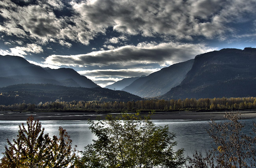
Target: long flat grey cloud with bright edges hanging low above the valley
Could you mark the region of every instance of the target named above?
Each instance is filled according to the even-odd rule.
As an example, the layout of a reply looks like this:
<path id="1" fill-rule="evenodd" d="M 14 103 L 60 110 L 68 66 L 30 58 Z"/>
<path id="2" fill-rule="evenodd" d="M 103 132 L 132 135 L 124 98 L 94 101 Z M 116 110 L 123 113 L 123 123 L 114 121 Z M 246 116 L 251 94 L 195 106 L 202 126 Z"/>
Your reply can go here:
<path id="1" fill-rule="evenodd" d="M 61 56 L 52 55 L 45 63 L 66 66 L 107 66 L 120 64 L 122 66 L 158 63 L 159 65 L 186 61 L 195 55 L 212 51 L 210 47 L 201 44 L 186 43 L 139 43 L 137 46 L 127 45 L 108 51 L 96 51 L 82 55 Z"/>

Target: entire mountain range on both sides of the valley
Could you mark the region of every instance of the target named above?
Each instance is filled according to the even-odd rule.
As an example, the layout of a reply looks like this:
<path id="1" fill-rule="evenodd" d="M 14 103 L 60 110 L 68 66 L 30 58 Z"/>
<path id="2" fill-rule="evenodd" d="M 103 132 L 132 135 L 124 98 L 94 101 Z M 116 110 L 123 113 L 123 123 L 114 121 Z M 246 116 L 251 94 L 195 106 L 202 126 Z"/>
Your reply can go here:
<path id="1" fill-rule="evenodd" d="M 2 96 L 6 95 L 5 98 L 11 95 L 14 100 L 15 91 L 19 91 L 20 94 L 17 95 L 23 95 L 23 100 L 29 95 L 34 95 L 35 99 L 39 100 L 40 96 L 33 94 L 38 93 L 38 89 L 31 93 L 30 87 L 37 88 L 40 85 L 43 87 L 42 92 L 48 95 L 50 92 L 47 88 L 56 89 L 54 86 L 61 85 L 61 91 L 46 97 L 51 97 L 52 100 L 65 98 L 65 101 L 71 99 L 129 101 L 140 100 L 140 97 L 158 99 L 251 97 L 256 96 L 255 62 L 256 48 L 222 49 L 199 54 L 195 59 L 173 64 L 148 76 L 122 79 L 106 87 L 109 89 L 104 89 L 73 69 L 42 68 L 18 56 L 0 56 L 0 93 Z M 12 90 L 12 87 L 15 89 Z M 24 94 L 19 87 L 26 88 L 23 90 Z M 91 90 L 88 90 L 89 88 Z M 80 92 L 85 95 L 77 96 L 76 99 L 71 90 L 77 95 L 80 95 Z M 72 96 L 68 98 L 67 94 L 61 92 Z M 20 97 L 16 96 L 15 99 L 21 100 Z M 43 99 L 43 96 L 41 98 Z"/>

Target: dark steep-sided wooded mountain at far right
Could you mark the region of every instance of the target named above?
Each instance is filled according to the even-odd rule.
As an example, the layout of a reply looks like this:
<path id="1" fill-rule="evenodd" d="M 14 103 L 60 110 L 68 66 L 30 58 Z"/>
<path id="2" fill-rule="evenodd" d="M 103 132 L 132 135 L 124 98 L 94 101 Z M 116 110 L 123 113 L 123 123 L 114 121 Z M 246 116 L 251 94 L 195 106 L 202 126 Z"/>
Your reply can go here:
<path id="1" fill-rule="evenodd" d="M 222 98 L 256 96 L 256 49 L 222 49 L 195 57 L 180 85 L 161 98 Z"/>

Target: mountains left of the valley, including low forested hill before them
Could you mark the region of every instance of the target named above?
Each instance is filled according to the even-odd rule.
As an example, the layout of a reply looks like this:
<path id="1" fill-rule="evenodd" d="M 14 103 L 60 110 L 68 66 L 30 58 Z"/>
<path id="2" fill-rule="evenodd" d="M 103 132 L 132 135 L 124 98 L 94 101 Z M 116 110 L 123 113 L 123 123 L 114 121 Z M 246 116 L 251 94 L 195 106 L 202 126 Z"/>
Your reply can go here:
<path id="1" fill-rule="evenodd" d="M 47 101 L 141 100 L 124 91 L 99 87 L 70 68 L 50 69 L 29 63 L 19 56 L 0 55 L 0 104 Z"/>

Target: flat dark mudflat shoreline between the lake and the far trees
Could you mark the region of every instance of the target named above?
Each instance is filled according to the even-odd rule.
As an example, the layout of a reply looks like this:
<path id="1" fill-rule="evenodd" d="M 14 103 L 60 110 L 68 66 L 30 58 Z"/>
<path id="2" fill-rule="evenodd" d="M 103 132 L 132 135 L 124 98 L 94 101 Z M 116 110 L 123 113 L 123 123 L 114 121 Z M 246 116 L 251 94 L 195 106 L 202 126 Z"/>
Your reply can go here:
<path id="1" fill-rule="evenodd" d="M 239 111 L 242 119 L 256 118 L 256 111 Z M 106 115 L 112 114 L 113 116 L 121 113 L 117 112 L 0 112 L 0 121 L 26 121 L 28 117 L 33 116 L 34 119 L 39 121 L 86 121 L 88 119 L 104 120 Z M 135 112 L 128 112 L 128 114 L 135 114 Z M 141 112 L 140 115 L 147 115 L 149 112 Z M 178 112 L 154 112 L 151 119 L 175 119 L 175 120 L 221 120 L 225 119 L 226 112 L 191 112 L 191 111 L 178 111 Z"/>

